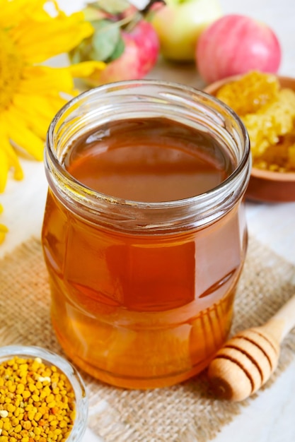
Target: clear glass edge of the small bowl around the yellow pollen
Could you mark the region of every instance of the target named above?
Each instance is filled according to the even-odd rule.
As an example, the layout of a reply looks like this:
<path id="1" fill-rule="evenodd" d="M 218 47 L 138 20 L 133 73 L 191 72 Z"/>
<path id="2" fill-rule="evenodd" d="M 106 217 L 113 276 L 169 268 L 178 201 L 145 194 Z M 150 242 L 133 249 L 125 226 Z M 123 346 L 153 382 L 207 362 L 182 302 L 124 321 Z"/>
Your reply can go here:
<path id="1" fill-rule="evenodd" d="M 45 365 L 54 365 L 68 378 L 74 390 L 76 398 L 76 418 L 73 429 L 66 442 L 81 442 L 83 434 L 86 431 L 88 418 L 88 398 L 86 395 L 86 387 L 83 383 L 79 372 L 66 359 L 58 354 L 45 350 L 41 347 L 8 345 L 0 347 L 0 364 L 18 356 L 24 359 L 35 359 L 39 357 Z"/>

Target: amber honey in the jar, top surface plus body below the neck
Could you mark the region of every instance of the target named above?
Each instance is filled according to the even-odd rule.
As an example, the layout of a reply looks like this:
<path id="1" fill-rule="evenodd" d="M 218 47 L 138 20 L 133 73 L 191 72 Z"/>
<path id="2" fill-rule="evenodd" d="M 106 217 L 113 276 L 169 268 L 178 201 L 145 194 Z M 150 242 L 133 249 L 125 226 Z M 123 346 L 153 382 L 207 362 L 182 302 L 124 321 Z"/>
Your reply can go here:
<path id="1" fill-rule="evenodd" d="M 100 127 L 71 146 L 64 167 L 91 189 L 146 202 L 195 196 L 233 170 L 216 142 L 166 119 Z M 226 340 L 243 205 L 199 229 L 138 234 L 83 220 L 49 191 L 42 238 L 54 329 L 96 378 L 168 386 L 204 369 Z"/>

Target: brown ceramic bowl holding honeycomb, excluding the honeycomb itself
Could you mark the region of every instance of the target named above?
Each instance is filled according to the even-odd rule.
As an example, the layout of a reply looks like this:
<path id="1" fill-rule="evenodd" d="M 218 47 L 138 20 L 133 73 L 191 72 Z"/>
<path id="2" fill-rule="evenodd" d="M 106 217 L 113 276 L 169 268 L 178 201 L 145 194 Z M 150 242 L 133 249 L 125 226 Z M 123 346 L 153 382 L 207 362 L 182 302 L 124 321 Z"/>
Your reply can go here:
<path id="1" fill-rule="evenodd" d="M 239 76 L 224 78 L 204 88 L 205 92 L 216 95 L 226 83 L 236 80 Z M 295 91 L 295 78 L 278 76 L 282 88 Z M 279 203 L 295 201 L 295 172 L 270 172 L 252 168 L 246 197 L 249 200 Z"/>

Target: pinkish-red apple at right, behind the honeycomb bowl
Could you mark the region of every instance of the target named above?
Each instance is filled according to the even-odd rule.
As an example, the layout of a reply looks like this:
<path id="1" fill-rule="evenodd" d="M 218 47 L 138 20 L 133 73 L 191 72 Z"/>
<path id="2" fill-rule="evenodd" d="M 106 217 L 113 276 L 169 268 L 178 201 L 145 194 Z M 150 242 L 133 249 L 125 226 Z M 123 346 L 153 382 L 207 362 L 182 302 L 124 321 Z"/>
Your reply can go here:
<path id="1" fill-rule="evenodd" d="M 207 83 L 248 71 L 276 73 L 282 50 L 274 31 L 253 18 L 229 14 L 202 32 L 195 58 Z"/>

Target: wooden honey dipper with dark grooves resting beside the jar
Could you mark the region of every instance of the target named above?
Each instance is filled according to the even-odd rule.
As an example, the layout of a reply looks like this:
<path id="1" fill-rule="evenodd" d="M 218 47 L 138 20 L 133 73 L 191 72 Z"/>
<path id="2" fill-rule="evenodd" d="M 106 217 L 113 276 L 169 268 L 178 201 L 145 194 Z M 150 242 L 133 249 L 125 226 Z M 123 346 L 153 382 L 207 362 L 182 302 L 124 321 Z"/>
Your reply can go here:
<path id="1" fill-rule="evenodd" d="M 295 325 L 295 295 L 267 323 L 238 333 L 209 364 L 208 376 L 219 398 L 248 398 L 272 375 L 280 343 Z"/>

